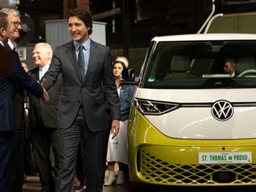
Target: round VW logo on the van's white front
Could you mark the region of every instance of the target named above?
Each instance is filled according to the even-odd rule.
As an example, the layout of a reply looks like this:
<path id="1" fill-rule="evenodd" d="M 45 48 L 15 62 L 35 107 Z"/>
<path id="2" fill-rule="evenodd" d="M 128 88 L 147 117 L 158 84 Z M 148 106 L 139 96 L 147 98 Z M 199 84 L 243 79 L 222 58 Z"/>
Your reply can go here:
<path id="1" fill-rule="evenodd" d="M 234 108 L 227 100 L 217 100 L 212 105 L 212 116 L 219 121 L 227 121 L 234 114 Z"/>

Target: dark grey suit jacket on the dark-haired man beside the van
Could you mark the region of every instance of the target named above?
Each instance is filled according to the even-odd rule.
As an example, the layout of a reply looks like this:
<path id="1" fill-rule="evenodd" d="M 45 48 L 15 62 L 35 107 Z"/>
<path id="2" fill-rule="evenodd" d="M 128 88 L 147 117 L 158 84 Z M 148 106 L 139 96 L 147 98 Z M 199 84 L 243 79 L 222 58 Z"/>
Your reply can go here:
<path id="1" fill-rule="evenodd" d="M 120 119 L 120 101 L 113 76 L 112 56 L 108 47 L 92 41 L 87 73 L 81 79 L 75 49 L 73 41 L 57 47 L 51 66 L 43 77 L 46 79 L 47 88 L 52 87 L 60 72 L 63 78 L 58 108 L 59 126 L 68 128 L 83 105 L 84 118 L 89 129 L 93 132 L 105 130 L 106 100 L 112 118 Z"/>

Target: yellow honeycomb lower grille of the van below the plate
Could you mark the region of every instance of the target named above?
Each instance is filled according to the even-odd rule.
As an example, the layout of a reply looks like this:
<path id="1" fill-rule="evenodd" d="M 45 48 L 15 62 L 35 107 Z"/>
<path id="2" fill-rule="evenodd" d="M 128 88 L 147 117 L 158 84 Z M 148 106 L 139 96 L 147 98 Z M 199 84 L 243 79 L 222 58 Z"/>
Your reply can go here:
<path id="1" fill-rule="evenodd" d="M 162 185 L 256 184 L 256 164 L 169 164 L 144 150 L 140 173 L 143 180 Z"/>

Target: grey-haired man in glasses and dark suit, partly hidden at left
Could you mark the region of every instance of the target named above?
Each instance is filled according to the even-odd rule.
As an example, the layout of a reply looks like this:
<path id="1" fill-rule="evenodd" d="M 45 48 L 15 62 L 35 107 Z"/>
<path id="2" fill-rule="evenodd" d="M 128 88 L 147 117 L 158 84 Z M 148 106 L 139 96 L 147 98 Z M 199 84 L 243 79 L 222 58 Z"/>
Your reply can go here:
<path id="1" fill-rule="evenodd" d="M 11 23 L 9 27 L 10 36 L 8 44 L 11 49 L 16 49 L 13 44 L 15 40 L 20 37 L 21 20 L 20 12 L 11 8 L 3 8 L 0 12 L 6 13 L 8 21 Z M 16 86 L 15 93 L 15 135 L 13 137 L 12 150 L 12 192 L 22 191 L 24 179 L 24 97 L 25 92 L 20 86 Z"/>

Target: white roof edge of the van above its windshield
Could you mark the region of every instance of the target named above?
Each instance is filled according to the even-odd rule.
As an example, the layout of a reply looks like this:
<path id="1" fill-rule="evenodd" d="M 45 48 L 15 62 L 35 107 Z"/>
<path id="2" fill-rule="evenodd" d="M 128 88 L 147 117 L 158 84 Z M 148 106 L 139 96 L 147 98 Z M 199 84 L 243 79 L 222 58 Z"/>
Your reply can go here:
<path id="1" fill-rule="evenodd" d="M 204 41 L 204 40 L 256 40 L 256 34 L 229 34 L 229 33 L 212 33 L 212 34 L 188 34 L 174 36 L 155 36 L 151 41 Z"/>

